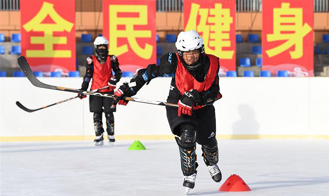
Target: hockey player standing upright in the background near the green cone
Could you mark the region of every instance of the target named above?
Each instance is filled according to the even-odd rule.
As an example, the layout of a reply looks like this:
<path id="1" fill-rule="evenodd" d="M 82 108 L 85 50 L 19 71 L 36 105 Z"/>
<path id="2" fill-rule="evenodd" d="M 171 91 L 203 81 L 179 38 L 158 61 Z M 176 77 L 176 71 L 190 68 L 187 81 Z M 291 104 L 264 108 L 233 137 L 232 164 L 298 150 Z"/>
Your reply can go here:
<path id="1" fill-rule="evenodd" d="M 94 41 L 95 55 L 91 55 L 86 59 L 86 74 L 83 77 L 81 90 L 87 90 L 90 79 L 91 90 L 109 86 L 108 88 L 99 90 L 99 92 L 114 93 L 116 83 L 122 77 L 122 72 L 119 68 L 117 56 L 108 55 L 108 41 L 105 37 L 97 37 Z M 112 74 L 114 71 L 114 75 Z M 86 95 L 79 94 L 80 99 Z M 94 140 L 96 146 L 103 145 L 103 124 L 102 112 L 106 118 L 106 132 L 110 144 L 115 142 L 114 138 L 114 115 L 116 107 L 112 105 L 113 99 L 101 96 L 89 96 L 89 109 L 93 113 L 93 122 L 96 138 Z"/>

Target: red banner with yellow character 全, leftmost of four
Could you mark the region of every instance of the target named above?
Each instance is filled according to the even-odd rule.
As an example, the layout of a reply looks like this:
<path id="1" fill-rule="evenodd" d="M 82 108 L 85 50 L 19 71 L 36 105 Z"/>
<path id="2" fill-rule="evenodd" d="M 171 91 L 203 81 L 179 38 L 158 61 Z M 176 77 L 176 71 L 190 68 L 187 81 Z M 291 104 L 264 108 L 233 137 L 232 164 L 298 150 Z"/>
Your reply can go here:
<path id="1" fill-rule="evenodd" d="M 75 71 L 75 1 L 22 0 L 22 55 L 33 71 Z"/>

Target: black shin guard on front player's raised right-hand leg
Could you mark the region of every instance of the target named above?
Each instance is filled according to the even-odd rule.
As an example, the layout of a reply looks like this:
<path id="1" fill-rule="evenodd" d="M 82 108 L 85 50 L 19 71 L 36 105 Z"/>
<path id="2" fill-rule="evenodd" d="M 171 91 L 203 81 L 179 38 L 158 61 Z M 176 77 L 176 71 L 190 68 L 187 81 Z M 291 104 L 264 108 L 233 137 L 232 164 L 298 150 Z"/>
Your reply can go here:
<path id="1" fill-rule="evenodd" d="M 211 143 L 202 145 L 203 161 L 206 165 L 214 165 L 218 163 L 218 146 L 217 140 L 214 139 Z"/>

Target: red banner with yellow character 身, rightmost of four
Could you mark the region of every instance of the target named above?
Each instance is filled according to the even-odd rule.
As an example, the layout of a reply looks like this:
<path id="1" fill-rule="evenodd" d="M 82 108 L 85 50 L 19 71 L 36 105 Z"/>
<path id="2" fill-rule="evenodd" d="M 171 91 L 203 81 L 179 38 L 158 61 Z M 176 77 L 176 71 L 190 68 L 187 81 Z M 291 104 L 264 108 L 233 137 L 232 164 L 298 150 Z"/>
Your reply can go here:
<path id="1" fill-rule="evenodd" d="M 263 0 L 263 70 L 314 76 L 313 1 Z"/>

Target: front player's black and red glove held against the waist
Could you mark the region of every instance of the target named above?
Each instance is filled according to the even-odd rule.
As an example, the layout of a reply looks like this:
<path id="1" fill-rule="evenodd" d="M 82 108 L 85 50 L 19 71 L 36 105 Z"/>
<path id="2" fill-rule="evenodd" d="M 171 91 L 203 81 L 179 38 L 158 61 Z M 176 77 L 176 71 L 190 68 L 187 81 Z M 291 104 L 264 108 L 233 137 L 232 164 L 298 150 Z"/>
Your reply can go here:
<path id="1" fill-rule="evenodd" d="M 178 101 L 178 116 L 181 113 L 192 116 L 193 107 L 200 102 L 200 94 L 197 90 L 185 91 L 182 99 Z"/>

